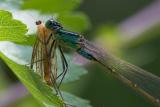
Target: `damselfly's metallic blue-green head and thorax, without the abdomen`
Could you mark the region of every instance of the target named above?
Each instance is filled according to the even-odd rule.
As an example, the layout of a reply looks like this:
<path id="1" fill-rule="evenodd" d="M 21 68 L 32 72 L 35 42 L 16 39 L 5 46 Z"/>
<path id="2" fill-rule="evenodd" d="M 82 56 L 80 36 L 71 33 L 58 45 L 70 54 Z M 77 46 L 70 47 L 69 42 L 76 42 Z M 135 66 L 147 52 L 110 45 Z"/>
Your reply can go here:
<path id="1" fill-rule="evenodd" d="M 46 28 L 53 31 L 54 38 L 59 41 L 60 45 L 78 49 L 81 36 L 63 29 L 63 26 L 57 21 L 50 19 L 45 23 Z"/>

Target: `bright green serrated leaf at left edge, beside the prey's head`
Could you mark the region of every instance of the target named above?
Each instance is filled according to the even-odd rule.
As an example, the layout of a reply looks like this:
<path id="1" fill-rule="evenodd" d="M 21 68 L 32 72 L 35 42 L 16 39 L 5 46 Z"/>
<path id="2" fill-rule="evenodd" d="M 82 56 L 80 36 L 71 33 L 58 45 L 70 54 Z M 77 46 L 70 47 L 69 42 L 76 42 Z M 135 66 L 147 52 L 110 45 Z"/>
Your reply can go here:
<path id="1" fill-rule="evenodd" d="M 27 27 L 12 18 L 10 12 L 0 10 L 0 41 L 24 42 Z"/>

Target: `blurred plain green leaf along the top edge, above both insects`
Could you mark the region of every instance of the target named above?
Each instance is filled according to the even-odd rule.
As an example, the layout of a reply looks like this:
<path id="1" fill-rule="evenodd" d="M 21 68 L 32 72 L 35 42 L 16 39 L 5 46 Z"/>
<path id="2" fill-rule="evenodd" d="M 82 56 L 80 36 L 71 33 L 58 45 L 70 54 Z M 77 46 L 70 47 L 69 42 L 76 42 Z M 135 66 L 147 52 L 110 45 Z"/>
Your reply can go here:
<path id="1" fill-rule="evenodd" d="M 35 9 L 42 13 L 62 13 L 72 11 L 81 0 L 26 0 L 22 9 Z"/>

